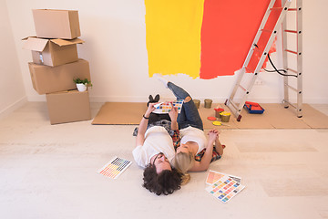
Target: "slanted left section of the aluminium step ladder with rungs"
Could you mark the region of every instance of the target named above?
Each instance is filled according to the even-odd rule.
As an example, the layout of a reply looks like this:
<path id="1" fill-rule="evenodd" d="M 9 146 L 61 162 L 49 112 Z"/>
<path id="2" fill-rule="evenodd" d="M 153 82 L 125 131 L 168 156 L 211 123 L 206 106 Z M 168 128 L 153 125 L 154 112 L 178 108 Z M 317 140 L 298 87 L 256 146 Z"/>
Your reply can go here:
<path id="1" fill-rule="evenodd" d="M 277 36 L 278 29 L 282 26 L 282 21 L 285 18 L 287 11 L 289 10 L 292 0 L 285 0 L 284 3 L 282 4 L 282 7 L 274 7 L 275 2 L 276 2 L 276 0 L 270 1 L 269 5 L 268 5 L 268 9 L 265 12 L 265 15 L 263 16 L 263 19 L 261 21 L 259 30 L 251 44 L 249 53 L 242 65 L 242 68 L 240 70 L 240 73 L 237 78 L 234 89 L 231 92 L 231 96 L 229 99 L 227 99 L 225 101 L 225 105 L 227 105 L 227 107 L 229 107 L 229 109 L 231 110 L 231 113 L 237 118 L 237 121 L 241 121 L 241 110 L 246 102 L 248 95 L 251 92 L 251 89 L 255 83 L 256 78 L 258 77 L 258 75 L 260 73 L 260 70 L 264 63 L 264 60 L 267 57 L 270 48 L 272 47 L 272 43 L 273 43 L 274 38 Z M 280 11 L 279 17 L 276 20 L 276 23 L 275 23 L 273 29 L 265 29 L 264 27 L 266 26 L 268 18 L 271 15 L 272 11 Z M 259 48 L 257 46 L 262 33 L 271 33 L 264 49 Z M 256 65 L 256 68 L 255 69 L 248 68 L 251 57 L 255 53 L 257 53 L 260 57 L 257 65 Z M 242 78 L 244 78 L 246 70 L 248 72 L 251 72 L 252 77 L 251 77 L 251 81 L 248 83 L 248 85 L 246 87 L 244 87 L 244 86 L 241 86 L 241 80 L 242 80 Z M 239 102 L 237 102 L 237 99 L 235 99 L 235 95 L 236 95 L 237 91 L 241 91 L 241 99 Z"/>

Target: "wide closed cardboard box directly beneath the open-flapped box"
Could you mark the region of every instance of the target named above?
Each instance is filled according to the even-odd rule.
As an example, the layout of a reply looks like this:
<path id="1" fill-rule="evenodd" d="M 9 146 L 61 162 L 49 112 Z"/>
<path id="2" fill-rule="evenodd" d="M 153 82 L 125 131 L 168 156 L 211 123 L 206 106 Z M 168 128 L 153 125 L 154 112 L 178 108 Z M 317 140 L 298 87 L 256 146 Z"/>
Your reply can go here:
<path id="1" fill-rule="evenodd" d="M 74 78 L 91 80 L 89 64 L 84 59 L 57 67 L 28 63 L 33 88 L 38 94 L 76 89 Z"/>

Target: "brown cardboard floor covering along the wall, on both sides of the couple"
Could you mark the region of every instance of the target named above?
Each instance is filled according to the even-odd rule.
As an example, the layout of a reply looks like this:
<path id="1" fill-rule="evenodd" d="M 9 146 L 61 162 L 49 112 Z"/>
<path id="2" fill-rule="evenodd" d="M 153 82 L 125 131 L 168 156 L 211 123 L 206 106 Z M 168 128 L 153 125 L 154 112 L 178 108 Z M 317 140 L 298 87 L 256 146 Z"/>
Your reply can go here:
<path id="1" fill-rule="evenodd" d="M 230 111 L 227 106 L 220 103 L 212 103 L 211 109 L 204 108 L 200 104 L 200 117 L 203 120 L 204 130 L 235 130 L 235 129 L 328 129 L 328 116 L 313 109 L 308 104 L 303 104 L 303 116 L 297 118 L 292 107 L 284 109 L 279 103 L 261 104 L 265 109 L 263 114 L 250 114 L 246 110 L 241 111 L 241 121 L 231 115 L 229 122 L 215 126 L 208 117 L 215 117 L 214 108 L 223 108 Z M 143 113 L 147 110 L 146 103 L 107 102 L 105 103 L 92 124 L 103 125 L 138 125 Z M 220 119 L 218 119 L 220 120 Z"/>

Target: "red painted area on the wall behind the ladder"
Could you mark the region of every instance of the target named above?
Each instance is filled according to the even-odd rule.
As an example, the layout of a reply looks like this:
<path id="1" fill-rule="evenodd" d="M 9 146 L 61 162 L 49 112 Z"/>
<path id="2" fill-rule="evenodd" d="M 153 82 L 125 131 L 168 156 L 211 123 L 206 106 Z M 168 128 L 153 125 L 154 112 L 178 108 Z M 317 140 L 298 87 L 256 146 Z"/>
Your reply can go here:
<path id="1" fill-rule="evenodd" d="M 200 78 L 233 75 L 242 67 L 269 2 L 205 0 L 200 33 Z M 277 0 L 275 6 L 280 2 Z M 274 19 L 271 22 L 273 24 Z M 262 37 L 258 46 L 262 47 L 265 40 Z M 256 57 L 252 57 L 249 67 L 256 62 Z"/>

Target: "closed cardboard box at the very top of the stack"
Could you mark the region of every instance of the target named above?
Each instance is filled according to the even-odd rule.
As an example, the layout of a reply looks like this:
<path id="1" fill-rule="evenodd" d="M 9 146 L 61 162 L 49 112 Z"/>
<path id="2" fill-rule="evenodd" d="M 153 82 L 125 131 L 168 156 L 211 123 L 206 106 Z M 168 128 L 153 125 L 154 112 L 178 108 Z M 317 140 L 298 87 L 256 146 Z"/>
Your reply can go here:
<path id="1" fill-rule="evenodd" d="M 36 36 L 73 39 L 81 36 L 78 11 L 33 9 Z"/>

